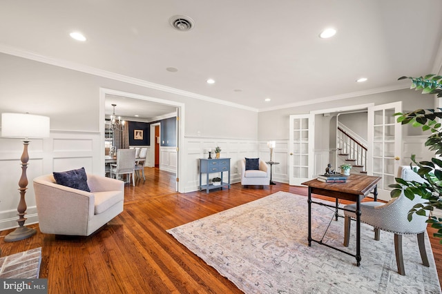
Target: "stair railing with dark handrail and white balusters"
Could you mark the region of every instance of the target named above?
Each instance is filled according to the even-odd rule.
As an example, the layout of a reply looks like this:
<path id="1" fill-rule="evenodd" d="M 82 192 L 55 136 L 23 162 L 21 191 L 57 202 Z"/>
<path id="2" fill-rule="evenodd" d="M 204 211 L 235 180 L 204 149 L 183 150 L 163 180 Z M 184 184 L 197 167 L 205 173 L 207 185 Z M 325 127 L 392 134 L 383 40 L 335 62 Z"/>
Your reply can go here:
<path id="1" fill-rule="evenodd" d="M 354 160 L 355 166 L 367 166 L 367 147 L 349 135 L 343 128 L 338 126 L 338 149 L 341 154 L 347 154 L 348 159 Z"/>

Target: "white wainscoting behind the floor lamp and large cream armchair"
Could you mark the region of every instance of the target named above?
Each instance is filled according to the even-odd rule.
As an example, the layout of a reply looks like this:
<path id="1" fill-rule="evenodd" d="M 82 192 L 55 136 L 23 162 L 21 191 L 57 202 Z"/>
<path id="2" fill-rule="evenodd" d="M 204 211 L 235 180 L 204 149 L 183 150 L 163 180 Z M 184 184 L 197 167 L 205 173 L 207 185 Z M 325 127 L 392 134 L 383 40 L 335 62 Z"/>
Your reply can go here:
<path id="1" fill-rule="evenodd" d="M 32 180 L 53 171 L 81 167 L 86 168 L 87 173 L 104 174 L 98 156 L 99 146 L 98 132 L 51 130 L 48 139 L 32 139 L 28 146 L 30 159 L 26 170 L 26 224 L 38 222 Z M 0 231 L 17 226 L 22 152 L 23 143 L 19 139 L 0 138 Z"/>

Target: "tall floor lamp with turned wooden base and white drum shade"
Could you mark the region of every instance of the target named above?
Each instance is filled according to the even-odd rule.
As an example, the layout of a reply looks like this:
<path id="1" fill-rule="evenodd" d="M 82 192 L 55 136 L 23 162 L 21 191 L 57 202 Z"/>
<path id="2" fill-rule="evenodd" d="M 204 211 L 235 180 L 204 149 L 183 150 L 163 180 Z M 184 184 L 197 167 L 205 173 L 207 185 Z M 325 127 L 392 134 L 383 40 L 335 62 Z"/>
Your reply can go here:
<path id="1" fill-rule="evenodd" d="M 29 115 L 22 113 L 2 113 L 1 114 L 1 137 L 22 138 L 23 154 L 21 155 L 21 177 L 19 180 L 20 201 L 17 207 L 19 227 L 5 236 L 5 242 L 15 242 L 26 239 L 37 231 L 33 228 L 24 226 L 26 222 L 26 201 L 25 193 L 28 188 L 28 177 L 26 177 L 26 168 L 28 168 L 28 145 L 29 138 L 47 138 L 49 137 L 49 117 L 41 115 Z"/>

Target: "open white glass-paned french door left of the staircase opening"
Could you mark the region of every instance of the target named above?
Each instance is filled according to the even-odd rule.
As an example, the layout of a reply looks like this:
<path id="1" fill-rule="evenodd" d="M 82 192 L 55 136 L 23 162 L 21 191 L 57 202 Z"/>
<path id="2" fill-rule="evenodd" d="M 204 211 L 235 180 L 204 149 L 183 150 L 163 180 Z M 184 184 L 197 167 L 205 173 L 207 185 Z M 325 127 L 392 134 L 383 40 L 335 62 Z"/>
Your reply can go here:
<path id="1" fill-rule="evenodd" d="M 315 115 L 290 115 L 289 184 L 300 186 L 315 177 L 314 173 Z"/>

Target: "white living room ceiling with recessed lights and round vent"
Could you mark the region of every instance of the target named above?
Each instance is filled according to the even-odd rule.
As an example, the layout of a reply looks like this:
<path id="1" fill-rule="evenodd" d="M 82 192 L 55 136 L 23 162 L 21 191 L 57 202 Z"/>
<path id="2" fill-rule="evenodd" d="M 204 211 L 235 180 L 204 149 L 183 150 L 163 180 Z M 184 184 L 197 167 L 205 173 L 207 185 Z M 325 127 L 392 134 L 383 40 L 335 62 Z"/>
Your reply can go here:
<path id="1" fill-rule="evenodd" d="M 175 14 L 191 17 L 193 30 L 172 28 Z M 0 52 L 262 111 L 405 88 L 398 77 L 439 72 L 441 15 L 441 0 L 1 0 Z M 327 27 L 336 36 L 320 39 Z M 71 39 L 74 30 L 87 41 Z"/>

